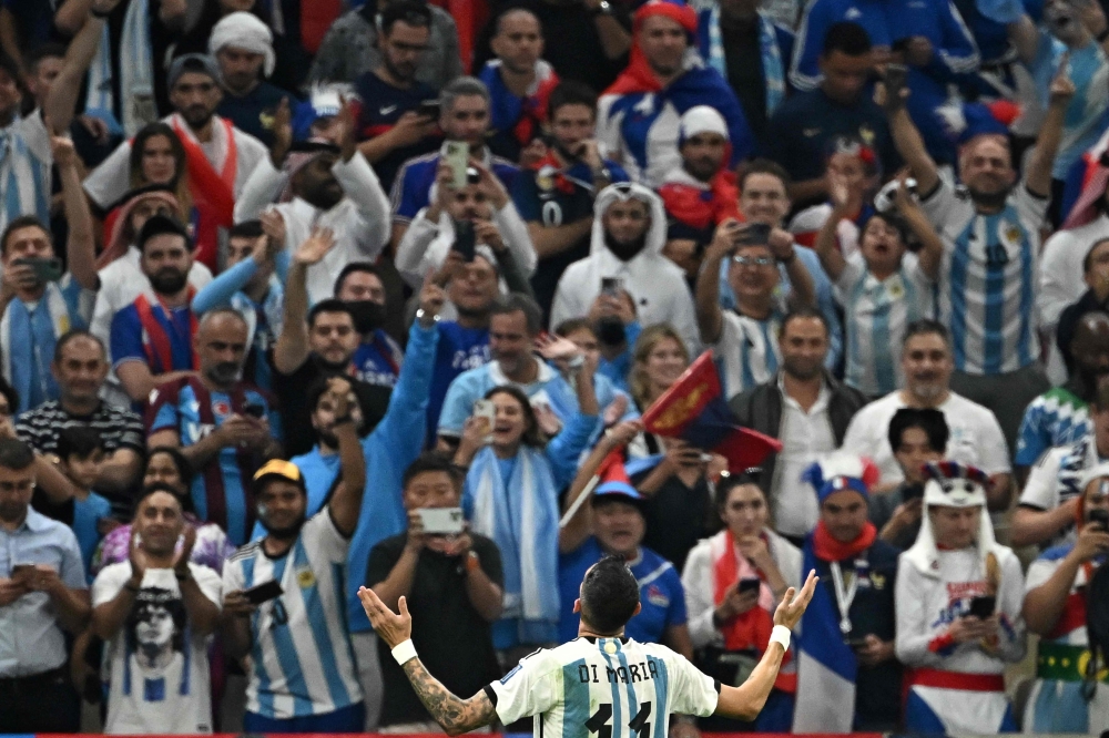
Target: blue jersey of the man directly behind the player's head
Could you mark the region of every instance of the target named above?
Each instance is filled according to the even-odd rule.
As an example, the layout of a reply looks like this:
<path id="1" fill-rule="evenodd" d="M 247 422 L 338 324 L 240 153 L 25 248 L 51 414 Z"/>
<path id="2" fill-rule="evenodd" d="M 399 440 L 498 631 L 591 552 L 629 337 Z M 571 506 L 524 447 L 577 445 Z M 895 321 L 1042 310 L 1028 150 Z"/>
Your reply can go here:
<path id="1" fill-rule="evenodd" d="M 600 544 L 592 536 L 577 551 L 559 555 L 559 640 L 577 637 L 581 617 L 573 612 L 573 601 L 578 598 L 586 572 L 603 555 Z M 686 621 L 685 590 L 681 577 L 673 564 L 644 546 L 640 546 L 639 557 L 631 562 L 630 568 L 639 583 L 639 602 L 643 608 L 628 621 L 624 635 L 640 643 L 662 643 L 667 628 L 684 625 Z"/>

